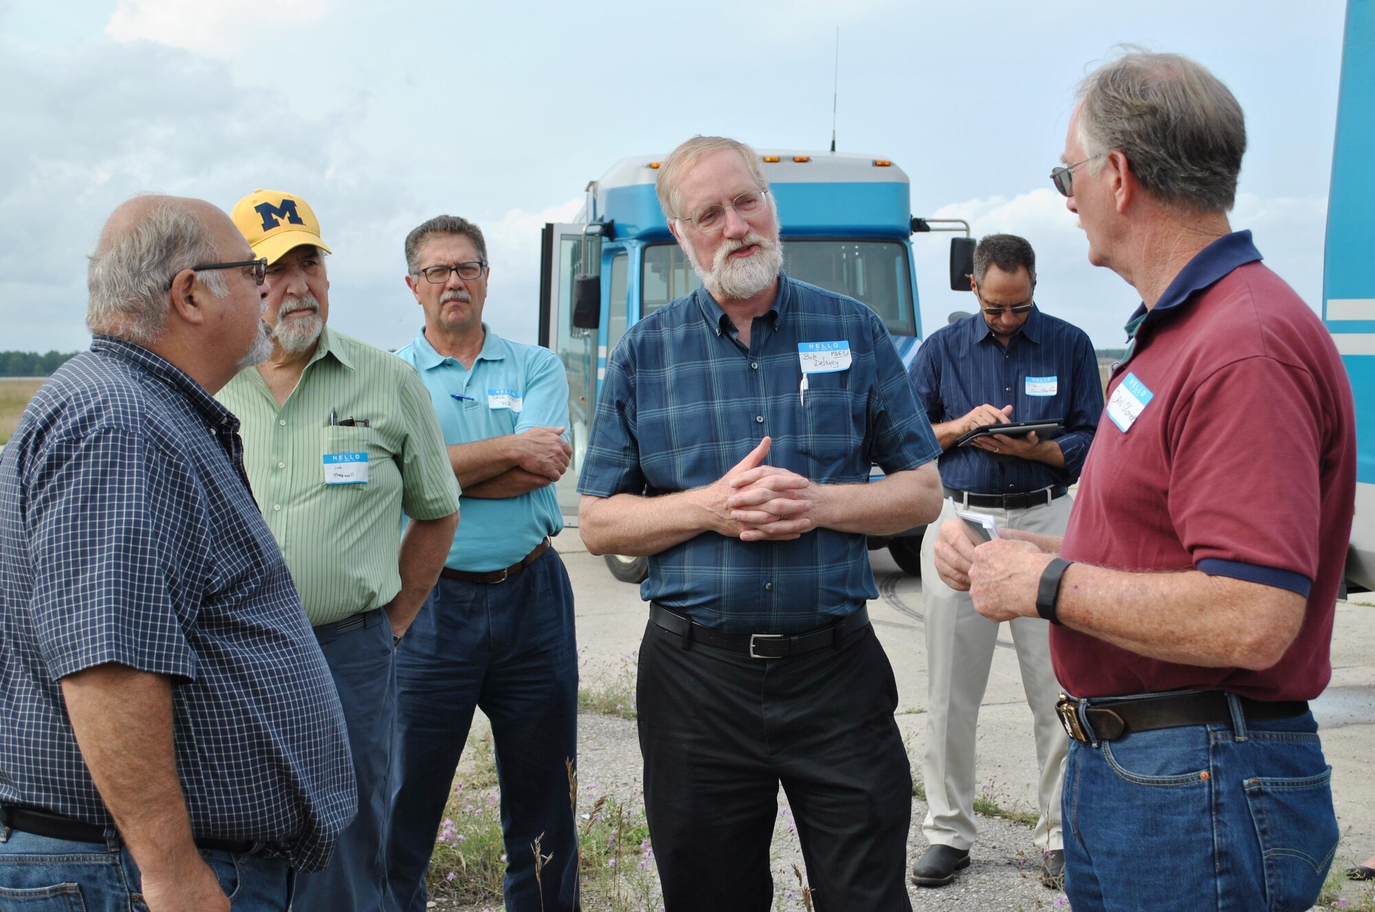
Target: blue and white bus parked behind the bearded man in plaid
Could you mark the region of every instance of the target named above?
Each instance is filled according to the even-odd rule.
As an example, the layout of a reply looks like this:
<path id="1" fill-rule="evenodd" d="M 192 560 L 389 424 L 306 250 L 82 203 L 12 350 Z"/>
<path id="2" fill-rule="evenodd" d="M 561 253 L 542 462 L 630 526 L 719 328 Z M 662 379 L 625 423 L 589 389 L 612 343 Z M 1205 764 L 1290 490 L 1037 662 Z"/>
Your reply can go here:
<path id="1" fill-rule="evenodd" d="M 886 158 L 846 152 L 763 150 L 764 174 L 778 205 L 784 269 L 857 298 L 884 320 L 905 364 L 921 338 L 912 235 L 958 231 L 912 217 L 908 176 Z M 587 185 L 576 221 L 544 225 L 539 342 L 568 371 L 573 457 L 558 482 L 558 503 L 576 522 L 578 475 L 587 448 L 606 356 L 626 330 L 698 287 L 654 195 L 663 157 L 626 158 Z M 968 235 L 968 225 L 964 227 Z M 968 290 L 974 242 L 952 242 L 952 287 Z M 921 529 L 887 545 L 909 573 L 918 573 Z M 638 581 L 645 559 L 608 556 L 619 578 Z"/>

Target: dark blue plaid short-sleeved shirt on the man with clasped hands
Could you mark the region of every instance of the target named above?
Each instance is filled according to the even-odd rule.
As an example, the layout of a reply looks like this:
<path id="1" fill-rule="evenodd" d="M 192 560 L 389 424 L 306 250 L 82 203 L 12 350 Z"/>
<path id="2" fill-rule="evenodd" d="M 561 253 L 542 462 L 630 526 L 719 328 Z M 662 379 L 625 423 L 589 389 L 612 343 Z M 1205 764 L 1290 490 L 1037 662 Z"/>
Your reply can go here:
<path id="1" fill-rule="evenodd" d="M 808 374 L 799 343 L 844 342 L 848 369 Z M 773 438 L 767 464 L 865 483 L 940 455 L 883 321 L 786 276 L 749 349 L 704 288 L 626 332 L 606 364 L 579 490 L 666 494 L 710 485 Z M 916 521 L 913 521 L 916 523 Z M 649 558 L 641 597 L 722 630 L 799 633 L 879 597 L 865 537 L 817 529 L 744 543 L 707 532 Z"/>

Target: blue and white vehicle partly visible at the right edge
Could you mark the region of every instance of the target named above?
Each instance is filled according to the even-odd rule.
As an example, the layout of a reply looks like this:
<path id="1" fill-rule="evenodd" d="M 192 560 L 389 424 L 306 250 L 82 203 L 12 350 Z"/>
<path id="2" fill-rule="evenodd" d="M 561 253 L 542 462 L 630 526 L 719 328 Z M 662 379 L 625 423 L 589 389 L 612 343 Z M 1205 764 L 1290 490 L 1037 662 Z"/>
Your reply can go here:
<path id="1" fill-rule="evenodd" d="M 1356 400 L 1356 522 L 1346 577 L 1375 589 L 1375 0 L 1349 0 L 1327 201 L 1323 320 Z"/>

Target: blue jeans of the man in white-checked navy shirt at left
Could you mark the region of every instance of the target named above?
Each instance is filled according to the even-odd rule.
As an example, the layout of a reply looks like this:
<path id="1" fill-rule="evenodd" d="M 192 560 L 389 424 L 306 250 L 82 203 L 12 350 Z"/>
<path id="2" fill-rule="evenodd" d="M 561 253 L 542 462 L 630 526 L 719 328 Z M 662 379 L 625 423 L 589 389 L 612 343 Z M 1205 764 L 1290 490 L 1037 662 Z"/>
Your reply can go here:
<path id="1" fill-rule="evenodd" d="M 234 912 L 286 912 L 286 858 L 202 850 Z M 0 912 L 146 912 L 142 878 L 118 838 L 107 843 L 0 830 Z"/>

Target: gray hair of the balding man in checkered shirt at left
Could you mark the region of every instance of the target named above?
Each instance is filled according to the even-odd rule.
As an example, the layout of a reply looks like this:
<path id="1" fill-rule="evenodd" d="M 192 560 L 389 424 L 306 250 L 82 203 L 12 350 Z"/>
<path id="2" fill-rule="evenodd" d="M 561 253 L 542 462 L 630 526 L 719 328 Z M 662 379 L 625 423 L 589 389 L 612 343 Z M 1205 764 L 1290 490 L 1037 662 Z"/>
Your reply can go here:
<path id="1" fill-rule="evenodd" d="M 166 328 L 176 273 L 219 258 L 220 244 L 199 218 L 177 201 L 157 201 L 96 243 L 87 268 L 87 327 L 138 345 L 155 342 Z M 197 277 L 216 298 L 230 291 L 219 269 Z"/>

